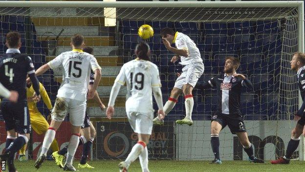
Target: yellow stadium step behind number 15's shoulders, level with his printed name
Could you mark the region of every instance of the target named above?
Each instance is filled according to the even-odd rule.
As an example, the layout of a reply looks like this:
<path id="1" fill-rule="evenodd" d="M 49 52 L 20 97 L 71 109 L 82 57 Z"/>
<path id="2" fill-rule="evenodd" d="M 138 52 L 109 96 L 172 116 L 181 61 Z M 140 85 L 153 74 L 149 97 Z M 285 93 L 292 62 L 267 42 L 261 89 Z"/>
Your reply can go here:
<path id="1" fill-rule="evenodd" d="M 54 58 L 55 56 L 46 56 L 45 60 L 49 62 Z M 95 56 L 95 58 L 101 67 L 112 67 L 112 66 L 116 67 L 123 65 L 122 56 Z M 104 75 L 103 69 L 102 69 L 102 75 Z"/>

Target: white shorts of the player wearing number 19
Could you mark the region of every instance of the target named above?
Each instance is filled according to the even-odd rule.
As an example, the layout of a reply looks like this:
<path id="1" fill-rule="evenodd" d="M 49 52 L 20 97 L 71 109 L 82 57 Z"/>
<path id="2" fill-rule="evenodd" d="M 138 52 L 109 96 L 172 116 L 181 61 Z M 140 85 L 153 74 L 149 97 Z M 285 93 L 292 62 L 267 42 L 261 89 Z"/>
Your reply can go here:
<path id="1" fill-rule="evenodd" d="M 126 112 L 131 128 L 138 134 L 152 134 L 153 113 Z"/>

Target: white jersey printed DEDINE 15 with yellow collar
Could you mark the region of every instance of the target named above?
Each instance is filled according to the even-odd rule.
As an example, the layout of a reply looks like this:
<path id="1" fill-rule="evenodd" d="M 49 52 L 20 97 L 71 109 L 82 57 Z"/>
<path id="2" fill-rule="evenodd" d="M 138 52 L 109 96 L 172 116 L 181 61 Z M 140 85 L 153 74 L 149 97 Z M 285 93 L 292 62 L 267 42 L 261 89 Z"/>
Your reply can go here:
<path id="1" fill-rule="evenodd" d="M 61 53 L 48 62 L 51 69 L 63 67 L 63 82 L 57 97 L 85 101 L 87 98 L 90 70 L 101 69 L 96 58 L 79 49 Z"/>

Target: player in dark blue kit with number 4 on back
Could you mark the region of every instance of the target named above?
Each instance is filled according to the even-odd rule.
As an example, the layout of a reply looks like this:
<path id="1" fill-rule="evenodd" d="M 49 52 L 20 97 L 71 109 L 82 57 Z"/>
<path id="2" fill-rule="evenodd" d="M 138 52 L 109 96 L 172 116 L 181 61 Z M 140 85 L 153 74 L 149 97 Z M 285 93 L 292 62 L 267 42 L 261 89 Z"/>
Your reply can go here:
<path id="1" fill-rule="evenodd" d="M 28 142 L 31 129 L 25 89 L 26 75 L 30 77 L 33 83 L 37 101 L 40 100 L 40 93 L 33 62 L 29 56 L 20 53 L 20 33 L 7 33 L 5 45 L 8 49 L 5 54 L 0 56 L 0 82 L 8 90 L 17 91 L 19 98 L 16 103 L 3 98 L 0 104 L 1 115 L 4 118 L 7 131 L 6 150 L 0 157 L 7 161 L 9 172 L 16 172 L 14 166 L 15 153 Z"/>

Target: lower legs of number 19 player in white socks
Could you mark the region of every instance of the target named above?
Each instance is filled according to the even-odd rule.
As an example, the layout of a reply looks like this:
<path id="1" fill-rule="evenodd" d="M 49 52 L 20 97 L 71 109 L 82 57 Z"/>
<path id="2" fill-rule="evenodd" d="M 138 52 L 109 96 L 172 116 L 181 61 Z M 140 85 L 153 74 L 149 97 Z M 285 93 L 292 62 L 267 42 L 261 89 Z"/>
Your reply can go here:
<path id="1" fill-rule="evenodd" d="M 119 169 L 120 172 L 128 172 L 128 168 L 133 161 L 135 161 L 138 157 L 140 159 L 140 164 L 142 168 L 142 172 L 149 172 L 148 170 L 148 149 L 146 145 L 149 143 L 150 139 L 149 134 L 138 134 L 138 143 L 135 144 L 131 152 L 125 161 L 120 162 Z"/>

